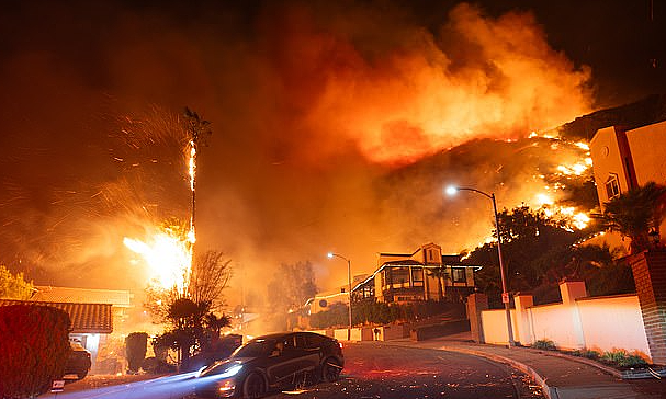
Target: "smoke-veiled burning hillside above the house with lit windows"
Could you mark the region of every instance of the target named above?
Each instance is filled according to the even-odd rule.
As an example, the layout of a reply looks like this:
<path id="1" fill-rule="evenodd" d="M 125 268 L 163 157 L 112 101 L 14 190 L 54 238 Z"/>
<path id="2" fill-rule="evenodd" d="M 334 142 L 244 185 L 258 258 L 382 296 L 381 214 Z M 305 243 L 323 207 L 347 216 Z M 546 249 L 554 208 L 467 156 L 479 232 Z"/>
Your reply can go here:
<path id="1" fill-rule="evenodd" d="M 449 185 L 495 193 L 499 210 L 541 209 L 571 230 L 587 228 L 598 206 L 586 142 L 537 135 L 477 139 L 396 170 L 377 185 L 384 208 L 392 209 L 385 215 L 395 220 L 392 231 L 416 248 L 427 237 L 409 220 L 421 220 L 452 252 L 492 240 L 487 198 L 464 192 L 450 197 L 444 193 Z"/>

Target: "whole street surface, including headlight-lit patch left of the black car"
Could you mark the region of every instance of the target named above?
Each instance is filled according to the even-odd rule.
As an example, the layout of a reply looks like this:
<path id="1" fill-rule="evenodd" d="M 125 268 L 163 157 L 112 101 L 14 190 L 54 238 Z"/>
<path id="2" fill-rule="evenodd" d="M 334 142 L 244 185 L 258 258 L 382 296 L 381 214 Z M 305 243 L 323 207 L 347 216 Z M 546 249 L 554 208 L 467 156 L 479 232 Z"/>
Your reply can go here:
<path id="1" fill-rule="evenodd" d="M 481 357 L 379 342 L 345 343 L 340 380 L 267 398 L 542 398 L 533 381 L 510 367 Z M 95 377 L 92 377 L 95 378 Z M 114 378 L 114 377 L 109 377 Z M 90 379 L 92 380 L 92 379 Z M 90 380 L 67 386 L 58 399 L 193 398 L 192 374 L 87 388 Z M 55 397 L 53 394 L 43 397 Z"/>

